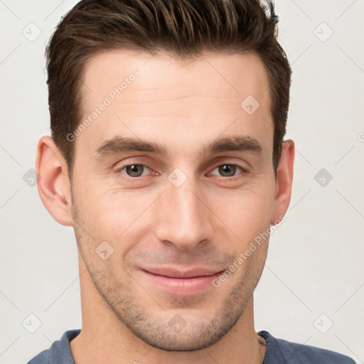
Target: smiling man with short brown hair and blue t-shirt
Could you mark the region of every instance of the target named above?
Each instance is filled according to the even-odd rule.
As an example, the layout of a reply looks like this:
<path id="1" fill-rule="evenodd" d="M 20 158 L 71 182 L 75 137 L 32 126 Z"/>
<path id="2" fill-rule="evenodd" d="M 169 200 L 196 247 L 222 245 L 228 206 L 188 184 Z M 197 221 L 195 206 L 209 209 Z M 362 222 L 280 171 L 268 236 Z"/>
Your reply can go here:
<path id="1" fill-rule="evenodd" d="M 82 329 L 29 363 L 353 363 L 255 332 L 291 197 L 291 68 L 255 0 L 83 0 L 47 49 L 38 191 L 73 226 Z"/>

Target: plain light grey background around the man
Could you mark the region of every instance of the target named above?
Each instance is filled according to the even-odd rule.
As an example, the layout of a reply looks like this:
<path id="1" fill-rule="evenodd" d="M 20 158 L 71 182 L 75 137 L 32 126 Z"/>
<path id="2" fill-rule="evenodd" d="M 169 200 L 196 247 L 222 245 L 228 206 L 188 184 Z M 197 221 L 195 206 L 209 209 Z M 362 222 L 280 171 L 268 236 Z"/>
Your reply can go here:
<path id="1" fill-rule="evenodd" d="M 74 4 L 0 0 L 0 363 L 26 363 L 81 327 L 73 229 L 23 180 L 49 134 L 44 48 Z M 271 237 L 255 293 L 256 329 L 363 364 L 364 1 L 276 4 L 294 71 L 287 138 L 296 161 L 287 221 Z M 35 333 L 30 314 L 41 321 Z"/>

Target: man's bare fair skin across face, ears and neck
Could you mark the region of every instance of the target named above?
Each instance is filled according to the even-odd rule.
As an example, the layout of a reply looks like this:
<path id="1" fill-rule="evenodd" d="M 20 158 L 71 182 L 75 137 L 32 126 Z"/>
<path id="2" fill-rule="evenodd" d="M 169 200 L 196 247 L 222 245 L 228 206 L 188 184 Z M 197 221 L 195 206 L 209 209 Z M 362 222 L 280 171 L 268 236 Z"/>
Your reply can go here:
<path id="1" fill-rule="evenodd" d="M 242 264 L 236 260 L 286 213 L 294 164 L 288 140 L 276 180 L 264 65 L 254 54 L 182 61 L 105 51 L 82 75 L 85 118 L 135 69 L 140 75 L 73 141 L 72 188 L 53 139 L 38 144 L 40 196 L 58 223 L 73 226 L 77 240 L 82 331 L 70 343 L 75 363 L 262 363 L 253 291 L 269 239 Z M 248 95 L 259 101 L 252 114 L 240 106 Z M 117 136 L 160 144 L 166 155 L 96 153 Z M 215 139 L 236 136 L 255 139 L 262 150 L 203 152 Z M 124 168 L 140 164 L 147 167 Z M 238 167 L 223 174 L 226 165 Z M 136 171 L 139 176 L 128 175 Z M 112 252 L 107 259 L 97 254 L 101 242 L 102 251 Z M 234 262 L 219 287 L 195 291 L 187 281 L 161 287 L 145 272 L 203 267 L 217 273 Z"/>

